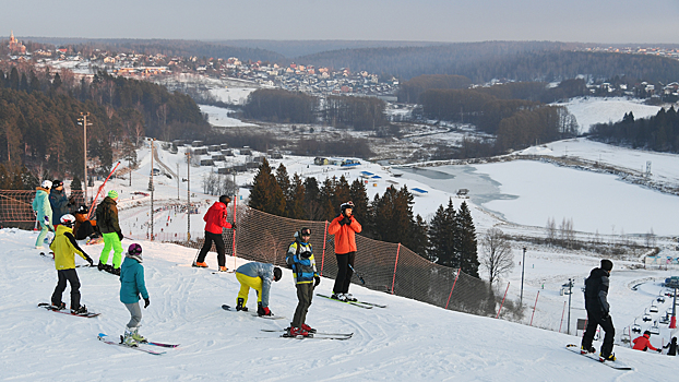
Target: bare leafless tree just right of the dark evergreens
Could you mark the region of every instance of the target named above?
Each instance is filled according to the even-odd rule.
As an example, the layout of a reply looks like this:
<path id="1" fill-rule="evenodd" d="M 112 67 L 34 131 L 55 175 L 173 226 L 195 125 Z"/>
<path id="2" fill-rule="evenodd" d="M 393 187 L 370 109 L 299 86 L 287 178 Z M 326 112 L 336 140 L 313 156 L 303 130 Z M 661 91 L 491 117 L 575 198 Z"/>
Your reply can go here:
<path id="1" fill-rule="evenodd" d="M 492 284 L 514 267 L 512 248 L 501 229 L 490 228 L 481 238 L 481 266 Z"/>

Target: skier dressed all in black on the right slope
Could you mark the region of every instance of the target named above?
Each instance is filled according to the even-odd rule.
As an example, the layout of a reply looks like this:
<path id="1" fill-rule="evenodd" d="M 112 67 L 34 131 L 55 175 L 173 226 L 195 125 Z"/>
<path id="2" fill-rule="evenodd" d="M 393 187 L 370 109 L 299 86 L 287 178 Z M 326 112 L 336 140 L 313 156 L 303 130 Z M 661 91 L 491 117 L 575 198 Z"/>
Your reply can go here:
<path id="1" fill-rule="evenodd" d="M 592 270 L 589 277 L 585 280 L 587 329 L 582 337 L 580 350 L 582 354 L 596 351 L 592 346 L 592 341 L 594 339 L 596 327 L 600 325 L 604 332 L 606 332 L 606 336 L 604 337 L 604 345 L 601 345 L 599 358 L 606 361 L 616 360 L 616 355 L 612 353 L 616 330 L 609 314 L 610 306 L 608 305 L 608 277 L 610 276 L 612 267 L 614 263 L 610 260 L 603 259 L 601 267 Z"/>

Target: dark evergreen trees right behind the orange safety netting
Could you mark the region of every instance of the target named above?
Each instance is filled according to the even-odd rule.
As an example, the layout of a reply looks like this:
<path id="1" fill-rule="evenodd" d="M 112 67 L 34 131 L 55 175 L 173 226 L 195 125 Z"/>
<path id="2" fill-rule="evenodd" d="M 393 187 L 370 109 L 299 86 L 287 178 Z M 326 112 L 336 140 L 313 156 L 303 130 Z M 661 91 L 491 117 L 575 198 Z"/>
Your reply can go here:
<path id="1" fill-rule="evenodd" d="M 478 277 L 476 228 L 465 202 L 456 211 L 450 200 L 427 223 L 414 214 L 414 196 L 406 186 L 391 186 L 370 200 L 360 179 L 349 183 L 344 176 L 322 182 L 298 174 L 290 178 L 283 164 L 273 170 L 264 160 L 254 176 L 248 205 L 277 216 L 330 222 L 338 215 L 340 205 L 349 200 L 362 226 L 361 235 L 400 242 L 432 262 Z"/>

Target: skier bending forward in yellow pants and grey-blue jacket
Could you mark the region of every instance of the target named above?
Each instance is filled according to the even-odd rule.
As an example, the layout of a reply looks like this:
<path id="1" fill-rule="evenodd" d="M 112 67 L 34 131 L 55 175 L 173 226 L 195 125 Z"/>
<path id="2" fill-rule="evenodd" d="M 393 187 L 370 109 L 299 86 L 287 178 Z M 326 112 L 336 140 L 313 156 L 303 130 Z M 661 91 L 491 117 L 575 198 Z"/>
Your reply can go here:
<path id="1" fill-rule="evenodd" d="M 269 291 L 271 289 L 271 280 L 277 282 L 283 276 L 279 267 L 273 264 L 251 262 L 240 265 L 236 270 L 236 279 L 240 283 L 238 299 L 236 301 L 236 310 L 248 311 L 248 294 L 250 288 L 257 291 L 257 314 L 274 315 L 269 309 Z"/>

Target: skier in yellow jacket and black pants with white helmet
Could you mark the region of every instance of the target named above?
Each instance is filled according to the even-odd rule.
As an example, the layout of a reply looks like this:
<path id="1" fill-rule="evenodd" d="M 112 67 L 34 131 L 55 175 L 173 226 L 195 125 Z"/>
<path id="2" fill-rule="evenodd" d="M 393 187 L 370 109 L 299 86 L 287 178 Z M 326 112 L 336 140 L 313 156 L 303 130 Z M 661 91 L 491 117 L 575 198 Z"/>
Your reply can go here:
<path id="1" fill-rule="evenodd" d="M 73 224 L 75 217 L 71 214 L 61 216 L 61 224 L 57 227 L 57 235 L 49 248 L 55 252 L 55 267 L 57 268 L 57 276 L 59 282 L 55 288 L 55 293 L 51 297 L 51 305 L 56 309 L 64 309 L 65 303 L 61 302 L 61 296 L 65 290 L 67 280 L 71 285 L 71 312 L 75 314 L 87 314 L 87 308 L 80 305 L 80 279 L 75 272 L 74 255 L 78 253 L 81 258 L 85 259 L 90 266 L 94 265 L 92 258 L 85 253 L 75 241 L 73 237 Z"/>

